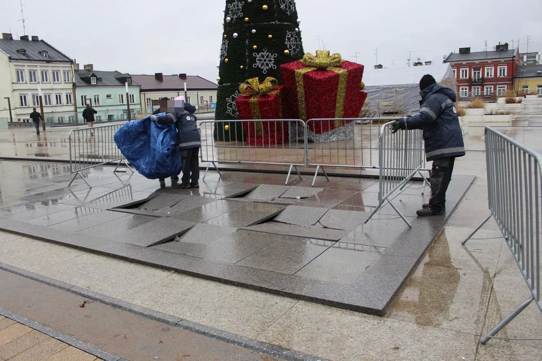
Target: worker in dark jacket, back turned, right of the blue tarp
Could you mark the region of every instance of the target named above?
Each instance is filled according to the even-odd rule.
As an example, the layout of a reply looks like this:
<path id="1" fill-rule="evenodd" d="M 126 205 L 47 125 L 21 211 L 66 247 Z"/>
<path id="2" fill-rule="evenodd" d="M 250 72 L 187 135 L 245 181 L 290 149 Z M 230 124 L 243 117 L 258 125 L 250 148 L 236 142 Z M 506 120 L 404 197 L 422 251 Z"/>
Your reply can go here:
<path id="1" fill-rule="evenodd" d="M 199 148 L 201 135 L 197 126 L 196 107 L 185 103 L 185 113 L 177 114 L 177 134 L 183 157 L 183 178 L 180 188 L 199 188 Z"/>

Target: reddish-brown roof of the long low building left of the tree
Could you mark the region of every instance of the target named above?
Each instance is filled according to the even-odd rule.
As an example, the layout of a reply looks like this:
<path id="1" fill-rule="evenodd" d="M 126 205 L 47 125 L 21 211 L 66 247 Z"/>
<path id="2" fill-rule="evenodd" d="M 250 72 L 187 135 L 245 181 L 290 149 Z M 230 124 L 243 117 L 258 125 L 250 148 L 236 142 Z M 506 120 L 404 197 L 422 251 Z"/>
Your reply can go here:
<path id="1" fill-rule="evenodd" d="M 216 89 L 218 85 L 201 76 L 186 76 L 186 80 L 178 75 L 164 75 L 163 81 L 156 80 L 154 75 L 132 75 L 132 80 L 141 85 L 141 90 L 184 90 L 184 82 L 189 90 Z"/>

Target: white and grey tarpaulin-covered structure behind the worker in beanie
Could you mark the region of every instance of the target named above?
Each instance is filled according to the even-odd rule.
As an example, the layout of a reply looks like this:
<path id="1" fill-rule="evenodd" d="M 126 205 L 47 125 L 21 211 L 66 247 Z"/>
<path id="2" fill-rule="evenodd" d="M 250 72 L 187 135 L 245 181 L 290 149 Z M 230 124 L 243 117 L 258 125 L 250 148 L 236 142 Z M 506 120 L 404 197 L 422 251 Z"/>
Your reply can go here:
<path id="1" fill-rule="evenodd" d="M 420 79 L 431 74 L 444 87 L 457 89 L 457 82 L 450 64 L 423 65 L 420 67 L 372 69 L 365 68 L 363 81 L 371 108 L 379 102 L 393 103 L 400 97 L 404 114 L 416 114 L 420 110 Z"/>

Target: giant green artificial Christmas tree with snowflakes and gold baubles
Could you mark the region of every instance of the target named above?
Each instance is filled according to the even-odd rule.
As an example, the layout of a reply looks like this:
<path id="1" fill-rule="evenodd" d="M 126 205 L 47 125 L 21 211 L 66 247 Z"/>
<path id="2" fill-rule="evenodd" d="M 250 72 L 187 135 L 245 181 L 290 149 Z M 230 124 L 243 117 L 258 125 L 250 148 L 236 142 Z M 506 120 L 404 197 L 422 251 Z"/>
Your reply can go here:
<path id="1" fill-rule="evenodd" d="M 220 50 L 215 140 L 244 141 L 235 100 L 247 79 L 281 83 L 280 65 L 304 55 L 294 0 L 227 0 Z"/>

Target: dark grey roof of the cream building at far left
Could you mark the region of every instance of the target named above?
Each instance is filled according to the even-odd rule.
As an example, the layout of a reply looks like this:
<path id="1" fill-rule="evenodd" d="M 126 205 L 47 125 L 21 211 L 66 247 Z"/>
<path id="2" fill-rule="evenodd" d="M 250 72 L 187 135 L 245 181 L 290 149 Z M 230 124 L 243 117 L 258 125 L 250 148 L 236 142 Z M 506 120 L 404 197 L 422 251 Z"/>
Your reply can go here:
<path id="1" fill-rule="evenodd" d="M 43 40 L 0 39 L 0 49 L 17 60 L 72 62 L 72 59 Z M 25 50 L 25 54 L 17 50 Z M 43 51 L 47 51 L 47 57 L 42 55 Z"/>

